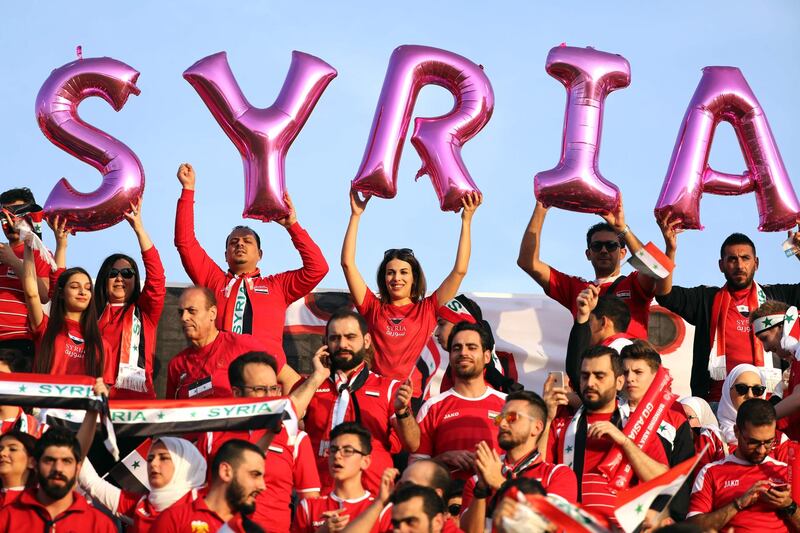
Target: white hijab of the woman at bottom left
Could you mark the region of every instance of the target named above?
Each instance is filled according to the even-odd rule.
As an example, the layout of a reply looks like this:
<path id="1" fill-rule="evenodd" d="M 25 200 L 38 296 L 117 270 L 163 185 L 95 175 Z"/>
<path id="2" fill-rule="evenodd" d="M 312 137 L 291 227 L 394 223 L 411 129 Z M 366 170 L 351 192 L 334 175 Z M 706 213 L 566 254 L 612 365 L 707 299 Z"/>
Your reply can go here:
<path id="1" fill-rule="evenodd" d="M 175 472 L 172 479 L 160 489 L 151 489 L 147 499 L 159 513 L 166 510 L 188 492 L 199 489 L 206 482 L 206 461 L 195 446 L 177 437 L 158 437 L 153 439 L 152 448 L 162 442 L 167 447 Z"/>

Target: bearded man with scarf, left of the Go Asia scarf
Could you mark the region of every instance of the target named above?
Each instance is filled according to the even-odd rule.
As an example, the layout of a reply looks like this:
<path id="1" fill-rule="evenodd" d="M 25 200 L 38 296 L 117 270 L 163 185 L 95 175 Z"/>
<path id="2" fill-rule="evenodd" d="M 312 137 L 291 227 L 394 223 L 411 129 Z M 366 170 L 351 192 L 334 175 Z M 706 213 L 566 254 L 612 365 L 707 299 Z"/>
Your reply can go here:
<path id="1" fill-rule="evenodd" d="M 609 453 L 621 451 L 633 468 L 633 479 L 649 481 L 667 471 L 667 456 L 659 439 L 650 439 L 640 449 L 621 430 L 627 416 L 617 394 L 625 384 L 622 361 L 613 348 L 596 346 L 583 354 L 580 374 L 580 398 L 576 412 L 567 409 L 564 389 L 546 395 L 548 420 L 547 457 L 565 464 L 578 479 L 578 502 L 585 508 L 614 521 L 616 494 L 599 465 Z"/>

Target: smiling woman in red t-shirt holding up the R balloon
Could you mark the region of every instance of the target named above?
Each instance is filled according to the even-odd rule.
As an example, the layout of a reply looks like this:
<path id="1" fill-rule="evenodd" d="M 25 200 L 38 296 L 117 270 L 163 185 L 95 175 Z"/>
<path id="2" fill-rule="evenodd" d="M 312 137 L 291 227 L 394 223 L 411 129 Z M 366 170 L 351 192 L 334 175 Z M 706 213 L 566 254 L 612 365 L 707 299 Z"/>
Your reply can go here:
<path id="1" fill-rule="evenodd" d="M 436 328 L 436 310 L 458 292 L 467 274 L 471 249 L 470 226 L 475 210 L 481 205 L 480 194 L 461 200 L 461 235 L 453 270 L 436 292 L 425 296 L 425 275 L 414 252 L 409 248 L 386 250 L 378 267 L 376 296 L 367 287 L 356 267 L 358 223 L 369 197 L 361 200 L 350 192 L 350 223 L 342 243 L 342 269 L 358 312 L 367 320 L 375 358 L 376 374 L 405 381 Z"/>

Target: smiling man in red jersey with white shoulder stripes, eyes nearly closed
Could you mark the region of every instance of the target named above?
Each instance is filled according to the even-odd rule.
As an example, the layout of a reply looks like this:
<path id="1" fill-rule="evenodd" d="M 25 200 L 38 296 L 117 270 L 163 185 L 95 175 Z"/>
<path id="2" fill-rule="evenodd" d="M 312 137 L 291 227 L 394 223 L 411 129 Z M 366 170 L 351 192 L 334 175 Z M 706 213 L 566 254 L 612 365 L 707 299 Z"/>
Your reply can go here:
<path id="1" fill-rule="evenodd" d="M 411 460 L 433 457 L 446 464 L 453 477 L 467 479 L 474 472 L 475 446 L 486 441 L 497 449 L 493 421 L 506 395 L 483 379 L 492 357 L 488 346 L 480 324 L 459 322 L 448 339 L 453 387 L 423 403 L 416 421 L 408 416 L 410 395 L 398 394 L 398 434 Z"/>

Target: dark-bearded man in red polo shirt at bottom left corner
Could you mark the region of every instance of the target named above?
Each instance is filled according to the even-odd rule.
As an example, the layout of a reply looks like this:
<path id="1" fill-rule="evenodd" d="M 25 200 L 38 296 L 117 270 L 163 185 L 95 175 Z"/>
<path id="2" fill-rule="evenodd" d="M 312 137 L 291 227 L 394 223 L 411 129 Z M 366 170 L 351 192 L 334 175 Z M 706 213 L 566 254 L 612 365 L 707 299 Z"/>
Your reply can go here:
<path id="1" fill-rule="evenodd" d="M 117 531 L 107 516 L 73 490 L 82 463 L 75 435 L 51 428 L 36 443 L 33 455 L 39 485 L 0 510 L 0 532 Z"/>

